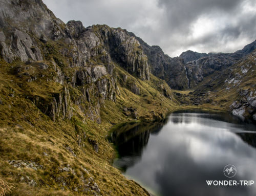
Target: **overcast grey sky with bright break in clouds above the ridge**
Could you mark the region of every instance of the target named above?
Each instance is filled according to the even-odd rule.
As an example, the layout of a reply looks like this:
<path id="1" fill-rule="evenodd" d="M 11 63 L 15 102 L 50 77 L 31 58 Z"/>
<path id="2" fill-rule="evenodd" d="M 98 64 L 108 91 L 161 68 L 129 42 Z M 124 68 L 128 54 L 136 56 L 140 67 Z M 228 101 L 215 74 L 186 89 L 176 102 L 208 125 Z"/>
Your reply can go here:
<path id="1" fill-rule="evenodd" d="M 65 23 L 106 24 L 135 33 L 171 57 L 234 52 L 256 39 L 256 0 L 43 0 Z"/>

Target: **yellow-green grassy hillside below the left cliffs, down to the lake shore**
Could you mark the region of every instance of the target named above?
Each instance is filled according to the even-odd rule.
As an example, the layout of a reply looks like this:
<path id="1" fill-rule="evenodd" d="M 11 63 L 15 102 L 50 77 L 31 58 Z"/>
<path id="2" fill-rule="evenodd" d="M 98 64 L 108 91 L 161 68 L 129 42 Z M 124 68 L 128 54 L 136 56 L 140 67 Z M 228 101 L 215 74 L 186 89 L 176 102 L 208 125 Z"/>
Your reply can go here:
<path id="1" fill-rule="evenodd" d="M 101 106 L 101 124 L 72 102 L 73 117 L 53 121 L 36 100 L 44 98 L 44 108 L 65 86 L 50 80 L 56 76 L 54 65 L 44 63 L 47 70 L 38 64 L 28 69 L 20 61 L 0 62 L 0 179 L 13 187 L 9 195 L 148 195 L 111 166 L 115 151 L 106 138 L 115 123 L 164 118 L 177 110 L 167 84 L 153 75 L 151 81 L 142 81 L 116 65 L 119 91 L 115 102 L 105 100 Z M 29 73 L 19 77 L 17 66 L 25 66 L 19 73 Z M 29 80 L 33 75 L 44 77 Z M 139 95 L 131 92 L 131 83 Z M 79 96 L 79 89 L 66 88 L 71 97 Z"/>

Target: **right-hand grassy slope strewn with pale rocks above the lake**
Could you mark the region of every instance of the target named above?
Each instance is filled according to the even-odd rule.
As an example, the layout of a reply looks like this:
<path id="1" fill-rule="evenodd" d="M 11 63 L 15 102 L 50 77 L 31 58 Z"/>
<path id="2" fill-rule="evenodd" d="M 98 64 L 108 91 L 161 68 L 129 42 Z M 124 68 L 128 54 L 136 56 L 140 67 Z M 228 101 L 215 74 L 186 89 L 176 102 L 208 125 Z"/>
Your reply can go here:
<path id="1" fill-rule="evenodd" d="M 194 103 L 256 120 L 256 51 L 230 67 L 207 76 L 193 95 Z"/>

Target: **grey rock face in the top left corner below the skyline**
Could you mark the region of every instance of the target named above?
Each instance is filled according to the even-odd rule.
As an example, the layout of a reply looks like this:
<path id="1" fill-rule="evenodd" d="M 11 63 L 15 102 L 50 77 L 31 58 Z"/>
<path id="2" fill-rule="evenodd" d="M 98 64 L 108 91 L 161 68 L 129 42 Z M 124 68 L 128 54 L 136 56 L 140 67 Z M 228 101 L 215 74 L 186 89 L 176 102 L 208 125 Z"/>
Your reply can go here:
<path id="1" fill-rule="evenodd" d="M 22 10 L 22 11 L 21 11 Z M 4 0 L 0 2 L 0 48 L 7 62 L 42 60 L 35 37 L 51 37 L 56 24 L 55 16 L 41 1 Z M 42 34 L 44 33 L 44 34 Z"/>

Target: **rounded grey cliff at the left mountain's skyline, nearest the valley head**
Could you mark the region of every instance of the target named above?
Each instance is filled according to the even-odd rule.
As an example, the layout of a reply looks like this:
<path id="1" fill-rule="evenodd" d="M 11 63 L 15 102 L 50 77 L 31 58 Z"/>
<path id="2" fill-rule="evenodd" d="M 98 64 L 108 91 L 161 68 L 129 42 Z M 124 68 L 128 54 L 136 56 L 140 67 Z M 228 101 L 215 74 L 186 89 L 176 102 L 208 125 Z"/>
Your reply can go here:
<path id="1" fill-rule="evenodd" d="M 69 21 L 67 25 L 71 31 L 78 28 L 80 35 L 75 35 L 74 38 L 81 55 L 87 60 L 100 58 L 111 75 L 112 61 L 116 61 L 126 71 L 136 74 L 140 79 L 150 79 L 150 67 L 140 43 L 125 30 L 106 25 L 94 25 L 80 30 L 80 23 L 75 21 Z"/>

